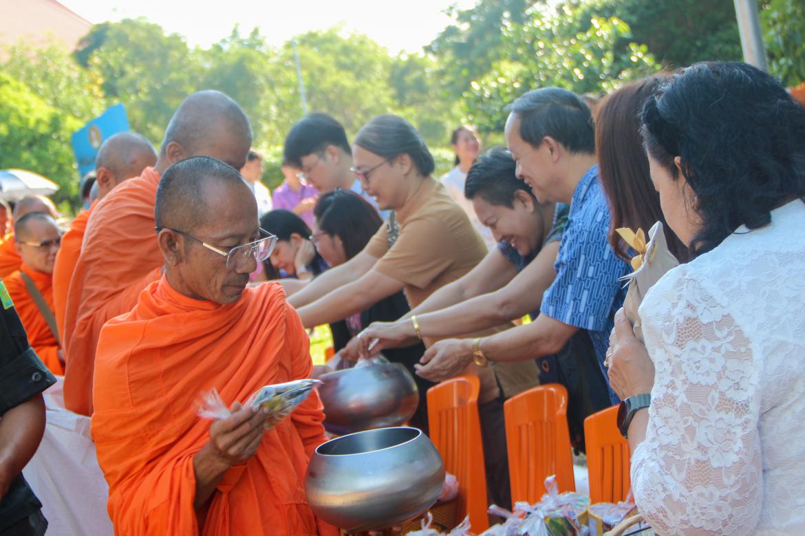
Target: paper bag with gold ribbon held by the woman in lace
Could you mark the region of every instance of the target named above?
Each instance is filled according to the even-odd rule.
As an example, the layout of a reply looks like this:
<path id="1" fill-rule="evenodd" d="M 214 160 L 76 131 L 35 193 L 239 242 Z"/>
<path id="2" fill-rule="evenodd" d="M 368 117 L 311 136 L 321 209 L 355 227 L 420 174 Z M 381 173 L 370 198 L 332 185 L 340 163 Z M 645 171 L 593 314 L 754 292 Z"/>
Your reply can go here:
<path id="1" fill-rule="evenodd" d="M 646 233 L 643 233 L 642 229 L 638 229 L 637 233 L 625 227 L 616 229 L 616 231 L 638 253 L 632 258 L 634 272 L 622 278 L 629 285 L 629 291 L 626 292 L 626 298 L 623 301 L 623 309 L 632 323 L 634 336 L 640 342 L 644 342 L 638 307 L 654 283 L 667 274 L 668 270 L 679 266 L 679 261 L 668 250 L 661 221 L 651 226 L 647 243 Z"/>

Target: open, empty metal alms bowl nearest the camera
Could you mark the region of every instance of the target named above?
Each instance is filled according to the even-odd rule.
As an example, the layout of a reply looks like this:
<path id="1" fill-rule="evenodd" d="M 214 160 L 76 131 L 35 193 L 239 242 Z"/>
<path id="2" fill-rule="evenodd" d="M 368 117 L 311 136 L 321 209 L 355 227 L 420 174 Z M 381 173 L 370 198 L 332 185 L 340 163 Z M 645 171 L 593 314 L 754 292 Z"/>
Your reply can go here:
<path id="1" fill-rule="evenodd" d="M 343 435 L 316 448 L 305 492 L 313 513 L 347 532 L 381 530 L 430 508 L 444 465 L 430 439 L 396 427 Z"/>

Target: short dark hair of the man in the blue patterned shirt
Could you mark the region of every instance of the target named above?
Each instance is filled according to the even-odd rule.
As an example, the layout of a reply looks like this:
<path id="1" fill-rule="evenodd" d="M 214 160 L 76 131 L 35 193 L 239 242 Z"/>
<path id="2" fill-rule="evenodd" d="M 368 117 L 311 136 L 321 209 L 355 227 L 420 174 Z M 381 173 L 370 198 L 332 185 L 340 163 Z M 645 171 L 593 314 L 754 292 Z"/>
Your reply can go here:
<path id="1" fill-rule="evenodd" d="M 520 138 L 538 147 L 551 136 L 572 153 L 596 150 L 590 109 L 576 93 L 561 88 L 529 91 L 508 108 L 520 119 Z"/>

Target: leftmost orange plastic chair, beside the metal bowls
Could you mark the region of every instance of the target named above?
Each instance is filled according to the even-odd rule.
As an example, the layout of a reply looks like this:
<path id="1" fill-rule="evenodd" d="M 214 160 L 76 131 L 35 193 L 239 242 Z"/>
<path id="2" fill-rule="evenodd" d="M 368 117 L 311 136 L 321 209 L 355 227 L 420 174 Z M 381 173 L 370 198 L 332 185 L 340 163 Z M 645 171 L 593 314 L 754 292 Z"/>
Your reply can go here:
<path id="1" fill-rule="evenodd" d="M 442 456 L 444 470 L 458 480 L 457 521 L 469 513 L 476 534 L 489 528 L 479 390 L 481 382 L 475 376 L 454 377 L 427 390 L 431 441 Z"/>

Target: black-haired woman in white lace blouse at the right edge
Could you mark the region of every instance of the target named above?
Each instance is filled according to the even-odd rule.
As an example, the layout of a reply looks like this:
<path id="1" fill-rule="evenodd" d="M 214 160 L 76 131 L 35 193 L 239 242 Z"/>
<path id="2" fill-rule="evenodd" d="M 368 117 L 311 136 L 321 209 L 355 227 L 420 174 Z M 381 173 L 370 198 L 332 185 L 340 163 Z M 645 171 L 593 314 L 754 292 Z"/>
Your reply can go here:
<path id="1" fill-rule="evenodd" d="M 749 65 L 696 64 L 642 124 L 693 260 L 646 295 L 645 346 L 616 317 L 638 509 L 663 535 L 805 534 L 805 109 Z"/>

